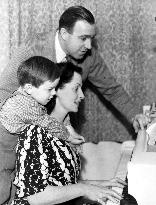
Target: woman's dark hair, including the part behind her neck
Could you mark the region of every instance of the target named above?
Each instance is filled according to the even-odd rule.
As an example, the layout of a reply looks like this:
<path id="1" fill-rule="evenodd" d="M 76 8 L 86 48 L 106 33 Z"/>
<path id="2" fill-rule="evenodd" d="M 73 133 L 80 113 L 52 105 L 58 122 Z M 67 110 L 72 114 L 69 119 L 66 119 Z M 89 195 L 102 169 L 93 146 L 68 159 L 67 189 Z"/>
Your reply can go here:
<path id="1" fill-rule="evenodd" d="M 73 79 L 74 73 L 79 73 L 80 75 L 82 75 L 82 68 L 74 65 L 71 62 L 67 62 L 67 63 L 58 63 L 57 64 L 59 69 L 62 70 L 62 74 L 60 76 L 60 80 L 58 85 L 56 86 L 55 90 L 57 91 L 58 89 L 63 88 L 67 83 L 70 83 Z M 54 96 L 46 105 L 48 114 L 50 114 L 52 112 L 52 110 L 55 107 L 55 103 L 56 103 L 56 97 Z M 67 96 L 68 97 L 68 96 Z"/>

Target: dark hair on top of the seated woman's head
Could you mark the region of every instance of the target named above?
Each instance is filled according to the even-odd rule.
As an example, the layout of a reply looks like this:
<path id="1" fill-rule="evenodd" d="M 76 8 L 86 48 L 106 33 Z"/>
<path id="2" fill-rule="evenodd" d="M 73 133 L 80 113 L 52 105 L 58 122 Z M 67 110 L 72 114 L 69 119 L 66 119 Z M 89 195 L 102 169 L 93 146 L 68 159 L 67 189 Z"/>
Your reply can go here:
<path id="1" fill-rule="evenodd" d="M 59 83 L 56 86 L 56 90 L 58 88 L 59 89 L 63 88 L 65 86 L 65 84 L 71 82 L 72 79 L 73 79 L 73 76 L 74 76 L 74 72 L 79 73 L 80 75 L 82 75 L 82 68 L 74 65 L 71 62 L 58 63 L 57 65 L 61 70 L 63 70 L 63 72 L 60 76 Z"/>

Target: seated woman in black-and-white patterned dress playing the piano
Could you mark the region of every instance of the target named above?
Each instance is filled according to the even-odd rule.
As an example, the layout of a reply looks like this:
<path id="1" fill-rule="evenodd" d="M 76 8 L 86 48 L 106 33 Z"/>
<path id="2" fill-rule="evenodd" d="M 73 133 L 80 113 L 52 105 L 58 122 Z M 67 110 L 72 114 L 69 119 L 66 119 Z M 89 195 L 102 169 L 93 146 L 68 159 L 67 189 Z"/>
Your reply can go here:
<path id="1" fill-rule="evenodd" d="M 81 68 L 71 64 L 59 64 L 64 67 L 57 86 L 53 118 L 53 133 L 49 134 L 37 125 L 27 126 L 20 134 L 16 153 L 17 187 L 12 205 L 60 204 L 80 196 L 104 204 L 106 199 L 114 202 L 122 197 L 110 186 L 123 187 L 121 180 L 112 180 L 96 184 L 91 181 L 78 181 L 80 158 L 78 151 L 67 141 L 68 135 L 63 122 L 69 112 L 77 112 L 84 98 Z M 108 186 L 108 187 L 107 187 Z M 71 202 L 73 204 L 73 202 Z"/>

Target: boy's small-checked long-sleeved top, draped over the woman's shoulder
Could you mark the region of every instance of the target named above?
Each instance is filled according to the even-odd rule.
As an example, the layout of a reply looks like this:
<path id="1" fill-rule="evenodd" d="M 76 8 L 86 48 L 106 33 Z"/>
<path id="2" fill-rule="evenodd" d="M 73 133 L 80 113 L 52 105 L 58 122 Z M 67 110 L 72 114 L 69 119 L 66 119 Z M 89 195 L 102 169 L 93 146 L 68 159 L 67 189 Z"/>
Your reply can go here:
<path id="1" fill-rule="evenodd" d="M 68 130 L 64 127 L 64 134 L 60 135 L 61 124 L 47 114 L 47 109 L 36 102 L 31 96 L 18 89 L 10 97 L 0 110 L 0 122 L 12 134 L 19 134 L 28 125 L 38 125 L 46 129 L 50 134 L 66 140 L 69 137 Z M 62 127 L 62 126 L 61 126 Z"/>

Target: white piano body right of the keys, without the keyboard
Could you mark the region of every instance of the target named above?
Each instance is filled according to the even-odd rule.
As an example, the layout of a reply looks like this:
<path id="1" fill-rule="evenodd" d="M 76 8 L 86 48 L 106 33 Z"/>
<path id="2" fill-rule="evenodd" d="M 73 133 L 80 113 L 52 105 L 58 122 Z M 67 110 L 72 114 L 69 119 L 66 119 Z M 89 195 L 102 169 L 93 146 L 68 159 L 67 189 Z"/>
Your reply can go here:
<path id="1" fill-rule="evenodd" d="M 128 162 L 128 193 L 138 205 L 156 204 L 156 123 L 148 126 Z"/>

